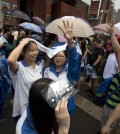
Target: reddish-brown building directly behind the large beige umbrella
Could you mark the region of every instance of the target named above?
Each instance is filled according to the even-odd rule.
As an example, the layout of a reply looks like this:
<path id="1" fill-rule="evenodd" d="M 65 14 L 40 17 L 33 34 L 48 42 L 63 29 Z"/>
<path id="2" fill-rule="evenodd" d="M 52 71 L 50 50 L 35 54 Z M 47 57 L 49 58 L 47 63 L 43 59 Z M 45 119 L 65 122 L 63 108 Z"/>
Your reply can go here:
<path id="1" fill-rule="evenodd" d="M 65 15 L 82 17 L 87 20 L 89 5 L 82 0 L 22 0 L 20 9 L 31 17 L 39 16 L 48 23 L 50 20 Z"/>

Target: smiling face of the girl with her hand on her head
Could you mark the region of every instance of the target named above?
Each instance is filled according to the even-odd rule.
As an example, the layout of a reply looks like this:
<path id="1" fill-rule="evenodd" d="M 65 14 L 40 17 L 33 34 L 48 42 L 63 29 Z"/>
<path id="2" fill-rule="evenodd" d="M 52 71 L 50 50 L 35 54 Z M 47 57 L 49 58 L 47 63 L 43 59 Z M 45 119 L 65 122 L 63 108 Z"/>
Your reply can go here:
<path id="1" fill-rule="evenodd" d="M 23 54 L 24 59 L 27 61 L 36 61 L 37 55 L 38 55 L 38 47 L 35 43 L 31 43 L 30 47 L 27 48 L 26 52 Z"/>

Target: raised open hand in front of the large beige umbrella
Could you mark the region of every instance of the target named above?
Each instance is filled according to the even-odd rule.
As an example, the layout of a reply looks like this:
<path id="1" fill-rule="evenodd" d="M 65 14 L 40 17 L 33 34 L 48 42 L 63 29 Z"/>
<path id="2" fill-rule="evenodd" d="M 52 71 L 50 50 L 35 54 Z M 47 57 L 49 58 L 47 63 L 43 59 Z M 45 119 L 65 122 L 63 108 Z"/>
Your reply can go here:
<path id="1" fill-rule="evenodd" d="M 69 21 L 67 21 L 67 23 L 65 23 L 65 21 L 63 21 L 63 25 L 64 28 L 61 28 L 60 26 L 59 29 L 63 32 L 64 37 L 67 39 L 68 41 L 68 45 L 70 48 L 73 48 L 73 23 L 70 25 Z"/>

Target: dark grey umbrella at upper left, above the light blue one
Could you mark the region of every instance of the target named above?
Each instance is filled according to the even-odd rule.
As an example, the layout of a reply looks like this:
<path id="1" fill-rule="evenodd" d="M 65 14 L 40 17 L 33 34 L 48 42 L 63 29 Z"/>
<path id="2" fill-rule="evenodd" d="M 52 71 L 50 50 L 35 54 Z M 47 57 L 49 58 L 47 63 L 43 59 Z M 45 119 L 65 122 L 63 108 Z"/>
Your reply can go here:
<path id="1" fill-rule="evenodd" d="M 24 13 L 20 10 L 17 10 L 17 9 L 11 10 L 10 15 L 15 18 L 31 21 L 30 17 L 26 13 Z"/>

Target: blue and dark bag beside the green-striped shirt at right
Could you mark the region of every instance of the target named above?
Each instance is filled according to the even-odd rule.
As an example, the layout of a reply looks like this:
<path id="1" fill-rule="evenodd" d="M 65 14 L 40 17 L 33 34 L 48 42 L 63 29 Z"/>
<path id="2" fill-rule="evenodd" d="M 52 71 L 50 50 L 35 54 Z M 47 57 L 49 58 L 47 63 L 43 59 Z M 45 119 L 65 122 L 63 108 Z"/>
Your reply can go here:
<path id="1" fill-rule="evenodd" d="M 113 77 L 110 77 L 108 79 L 105 79 L 101 85 L 96 89 L 95 97 L 94 97 L 94 103 L 96 105 L 103 106 L 106 99 L 108 98 L 108 86 L 110 82 L 112 81 Z"/>

